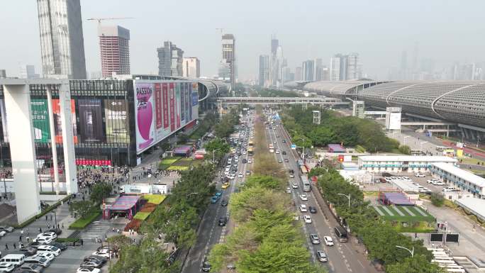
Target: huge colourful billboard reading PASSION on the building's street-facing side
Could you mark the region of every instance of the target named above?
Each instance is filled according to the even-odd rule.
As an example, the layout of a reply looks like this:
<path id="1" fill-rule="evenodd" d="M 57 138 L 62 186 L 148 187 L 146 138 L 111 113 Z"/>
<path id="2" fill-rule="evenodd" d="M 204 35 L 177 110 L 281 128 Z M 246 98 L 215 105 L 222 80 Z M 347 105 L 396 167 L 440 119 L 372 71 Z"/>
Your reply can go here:
<path id="1" fill-rule="evenodd" d="M 188 81 L 135 80 L 138 154 L 198 118 L 197 87 L 197 83 Z M 108 131 L 106 124 L 109 142 Z"/>

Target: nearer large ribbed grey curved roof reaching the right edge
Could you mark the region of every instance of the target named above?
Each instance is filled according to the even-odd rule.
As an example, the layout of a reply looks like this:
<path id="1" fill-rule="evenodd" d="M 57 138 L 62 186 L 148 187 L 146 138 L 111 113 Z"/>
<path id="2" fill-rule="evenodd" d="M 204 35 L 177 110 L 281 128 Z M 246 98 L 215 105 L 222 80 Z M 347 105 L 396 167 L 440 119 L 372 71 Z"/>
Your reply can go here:
<path id="1" fill-rule="evenodd" d="M 485 81 L 388 82 L 359 90 L 366 104 L 485 127 Z"/>

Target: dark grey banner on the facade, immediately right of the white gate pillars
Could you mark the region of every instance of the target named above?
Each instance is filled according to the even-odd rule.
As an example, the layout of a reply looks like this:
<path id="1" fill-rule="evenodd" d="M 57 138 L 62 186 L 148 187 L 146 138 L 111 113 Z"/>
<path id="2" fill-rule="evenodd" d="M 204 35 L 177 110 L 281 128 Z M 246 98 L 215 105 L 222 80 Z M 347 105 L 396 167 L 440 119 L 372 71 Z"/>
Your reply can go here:
<path id="1" fill-rule="evenodd" d="M 81 143 L 101 143 L 104 140 L 101 99 L 78 99 Z"/>

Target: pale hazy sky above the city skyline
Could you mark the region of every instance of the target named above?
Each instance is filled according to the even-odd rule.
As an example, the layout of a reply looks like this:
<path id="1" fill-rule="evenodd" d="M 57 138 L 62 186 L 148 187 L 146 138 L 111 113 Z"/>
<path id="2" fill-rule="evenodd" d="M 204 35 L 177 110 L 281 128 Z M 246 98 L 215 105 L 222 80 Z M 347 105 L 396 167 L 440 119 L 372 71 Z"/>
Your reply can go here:
<path id="1" fill-rule="evenodd" d="M 359 52 L 364 72 L 385 79 L 398 67 L 401 52 L 433 58 L 437 67 L 453 61 L 485 60 L 485 1 L 446 0 L 81 0 L 84 48 L 89 72 L 100 71 L 97 22 L 91 17 L 134 17 L 130 29 L 132 73 L 156 74 L 156 48 L 171 40 L 184 56 L 201 60 L 211 77 L 221 59 L 221 33 L 236 38 L 240 79 L 255 78 L 257 57 L 269 54 L 277 35 L 292 70 L 303 60 Z M 37 4 L 1 1 L 0 69 L 18 75 L 18 63 L 40 67 Z"/>

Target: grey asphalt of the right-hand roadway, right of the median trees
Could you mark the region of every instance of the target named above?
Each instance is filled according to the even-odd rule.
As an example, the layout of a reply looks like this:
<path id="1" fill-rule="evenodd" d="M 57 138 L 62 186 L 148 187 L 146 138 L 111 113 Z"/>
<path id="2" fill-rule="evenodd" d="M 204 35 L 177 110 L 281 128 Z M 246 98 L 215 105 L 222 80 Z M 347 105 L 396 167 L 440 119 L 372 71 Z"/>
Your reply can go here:
<path id="1" fill-rule="evenodd" d="M 281 164 L 284 165 L 284 168 L 286 170 L 294 169 L 295 177 L 291 178 L 288 186 L 291 188 L 291 182 L 296 182 L 296 184 L 299 184 L 298 189 L 292 189 L 291 195 L 295 202 L 295 211 L 299 214 L 300 221 L 303 225 L 303 232 L 305 233 L 307 240 L 306 243 L 308 250 L 311 252 L 313 262 L 318 263 L 318 260 L 316 259 L 316 251 L 323 250 L 328 256 L 328 262 L 326 262 L 324 266 L 328 267 L 329 272 L 377 272 L 377 270 L 372 267 L 364 255 L 361 252 L 356 251 L 351 242 L 340 243 L 337 238 L 335 238 L 333 229 L 336 225 L 338 225 L 338 223 L 335 221 L 335 218 L 329 215 L 328 212 L 326 213 L 327 217 L 325 218 L 322 207 L 319 206 L 318 202 L 316 201 L 316 197 L 314 196 L 314 194 L 318 194 L 313 192 L 315 189 L 313 189 L 311 192 L 302 191 L 302 182 L 300 179 L 301 172 L 299 171 L 297 164 L 299 157 L 296 152 L 291 150 L 291 141 L 289 140 L 288 134 L 285 132 L 281 123 L 276 122 L 272 128 L 267 129 L 267 140 L 269 143 L 273 143 L 275 150 L 280 150 L 280 153 L 275 153 L 275 156 L 277 157 L 277 160 L 282 161 Z M 285 140 L 286 143 L 283 143 L 282 140 Z M 283 152 L 286 152 L 286 155 L 283 155 Z M 284 162 L 285 158 L 288 159 L 288 162 Z M 302 201 L 299 198 L 300 194 L 306 194 L 306 196 L 308 196 L 308 201 Z M 318 208 L 318 211 L 317 213 L 301 213 L 299 211 L 300 204 L 305 204 L 307 207 L 316 207 Z M 305 223 L 303 221 L 304 214 L 311 216 L 312 223 Z M 310 241 L 310 234 L 318 234 L 318 238 L 320 238 L 321 243 L 319 245 L 313 245 Z M 325 245 L 323 242 L 323 236 L 332 237 L 335 245 Z M 354 238 L 350 239 L 352 240 Z"/>

